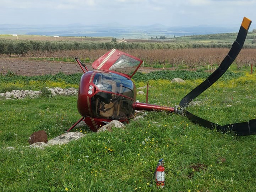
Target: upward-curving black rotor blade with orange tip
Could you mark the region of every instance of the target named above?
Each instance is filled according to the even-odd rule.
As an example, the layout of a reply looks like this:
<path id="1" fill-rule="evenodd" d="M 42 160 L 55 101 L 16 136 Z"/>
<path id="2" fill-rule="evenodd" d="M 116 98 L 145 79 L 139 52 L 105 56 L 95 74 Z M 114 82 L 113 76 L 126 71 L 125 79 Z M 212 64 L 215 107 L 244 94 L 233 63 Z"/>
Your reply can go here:
<path id="1" fill-rule="evenodd" d="M 198 85 L 194 90 L 188 93 L 181 101 L 180 107 L 188 106 L 189 102 L 208 89 L 212 84 L 214 84 L 225 72 L 228 70 L 230 65 L 236 59 L 236 56 L 241 51 L 244 41 L 246 39 L 246 35 L 250 24 L 252 21 L 246 17 L 244 17 L 240 30 L 238 32 L 237 38 L 232 44 L 232 48 L 228 52 L 227 56 L 221 62 L 220 66 L 200 85 Z"/>

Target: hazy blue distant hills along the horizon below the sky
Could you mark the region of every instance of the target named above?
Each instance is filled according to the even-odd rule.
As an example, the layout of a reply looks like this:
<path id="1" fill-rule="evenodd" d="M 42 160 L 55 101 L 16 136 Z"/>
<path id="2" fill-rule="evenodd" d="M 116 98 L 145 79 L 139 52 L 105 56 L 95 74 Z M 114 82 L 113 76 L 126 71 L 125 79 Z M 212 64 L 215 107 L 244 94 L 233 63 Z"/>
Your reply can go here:
<path id="1" fill-rule="evenodd" d="M 155 36 L 184 36 L 238 32 L 240 26 L 175 26 L 162 24 L 149 26 L 126 26 L 111 23 L 102 25 L 13 25 L 1 24 L 0 34 L 46 35 L 46 36 L 89 36 L 115 38 L 148 38 Z M 252 27 L 251 27 L 252 28 Z M 253 28 L 252 28 L 253 29 Z"/>

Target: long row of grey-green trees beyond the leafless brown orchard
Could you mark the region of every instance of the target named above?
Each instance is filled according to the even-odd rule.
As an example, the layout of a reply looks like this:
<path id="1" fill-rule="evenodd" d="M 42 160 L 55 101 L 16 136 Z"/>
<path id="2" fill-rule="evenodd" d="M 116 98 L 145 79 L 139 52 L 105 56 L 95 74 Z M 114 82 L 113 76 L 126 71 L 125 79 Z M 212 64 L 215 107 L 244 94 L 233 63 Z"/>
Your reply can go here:
<path id="1" fill-rule="evenodd" d="M 231 44 L 199 44 L 171 42 L 76 42 L 76 41 L 40 41 L 40 40 L 6 40 L 0 39 L 0 54 L 26 56 L 37 52 L 54 52 L 62 50 L 155 50 L 187 48 L 230 48 Z M 245 48 L 255 48 L 245 45 Z"/>

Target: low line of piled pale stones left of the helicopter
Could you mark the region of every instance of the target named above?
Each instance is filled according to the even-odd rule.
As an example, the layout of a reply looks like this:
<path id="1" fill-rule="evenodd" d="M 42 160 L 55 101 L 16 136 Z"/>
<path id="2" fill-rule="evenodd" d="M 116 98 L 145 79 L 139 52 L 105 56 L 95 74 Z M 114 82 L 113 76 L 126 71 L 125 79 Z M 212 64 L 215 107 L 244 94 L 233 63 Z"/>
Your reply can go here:
<path id="1" fill-rule="evenodd" d="M 52 93 L 52 96 L 55 95 L 76 95 L 78 90 L 76 88 L 63 89 L 60 87 L 48 88 Z M 25 97 L 36 98 L 40 95 L 41 91 L 32 91 L 32 90 L 12 90 L 11 92 L 0 93 L 0 99 L 23 99 Z"/>

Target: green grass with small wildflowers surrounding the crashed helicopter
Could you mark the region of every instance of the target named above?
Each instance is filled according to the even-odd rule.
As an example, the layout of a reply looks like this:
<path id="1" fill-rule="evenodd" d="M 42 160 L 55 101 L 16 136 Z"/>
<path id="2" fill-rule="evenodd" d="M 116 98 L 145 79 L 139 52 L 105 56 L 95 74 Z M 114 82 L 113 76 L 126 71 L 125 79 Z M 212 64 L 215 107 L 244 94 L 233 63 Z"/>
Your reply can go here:
<path id="1" fill-rule="evenodd" d="M 174 106 L 200 82 L 150 80 L 149 101 Z M 249 74 L 220 79 L 196 99 L 200 106 L 188 110 L 220 124 L 255 118 L 255 82 L 256 76 Z M 137 87 L 144 85 L 136 82 Z M 256 190 L 255 136 L 222 134 L 177 114 L 147 112 L 144 119 L 131 120 L 124 130 L 111 133 L 78 127 L 73 131 L 86 134 L 78 141 L 44 150 L 29 148 L 32 132 L 45 130 L 49 140 L 80 118 L 76 99 L 0 100 L 2 191 L 157 191 L 150 183 L 160 158 L 166 161 L 161 191 Z M 146 96 L 137 99 L 145 102 Z M 6 149 L 9 146 L 15 149 Z"/>

